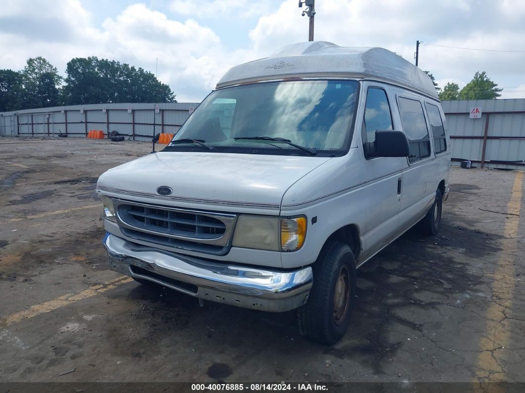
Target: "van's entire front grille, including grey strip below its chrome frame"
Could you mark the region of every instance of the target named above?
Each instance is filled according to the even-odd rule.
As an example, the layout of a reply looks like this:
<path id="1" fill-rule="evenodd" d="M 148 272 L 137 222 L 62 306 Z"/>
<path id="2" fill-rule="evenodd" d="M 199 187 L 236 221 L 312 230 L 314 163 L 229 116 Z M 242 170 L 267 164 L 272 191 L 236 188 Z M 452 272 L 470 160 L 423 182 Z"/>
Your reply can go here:
<path id="1" fill-rule="evenodd" d="M 215 255 L 230 247 L 233 214 L 187 210 L 114 199 L 117 221 L 124 236 L 142 242 Z"/>

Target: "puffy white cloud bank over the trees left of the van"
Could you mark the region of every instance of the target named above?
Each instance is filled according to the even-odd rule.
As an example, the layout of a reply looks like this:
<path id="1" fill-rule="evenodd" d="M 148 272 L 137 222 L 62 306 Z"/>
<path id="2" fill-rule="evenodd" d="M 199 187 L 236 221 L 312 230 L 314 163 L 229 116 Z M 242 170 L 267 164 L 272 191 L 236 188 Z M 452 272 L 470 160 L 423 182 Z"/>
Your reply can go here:
<path id="1" fill-rule="evenodd" d="M 54 14 L 55 24 L 64 30 L 61 40 L 40 39 L 38 31 L 27 37 L 27 24 L 0 27 L 2 67 L 22 69 L 27 58 L 44 56 L 65 72 L 71 58 L 98 56 L 154 72 L 155 58 L 159 58 L 159 78 L 169 83 L 182 101 L 201 100 L 230 66 L 217 34 L 193 19 L 178 22 L 144 4 L 134 4 L 96 29 L 77 0 L 62 2 L 61 9 Z M 31 18 L 47 14 L 49 4 L 43 2 L 10 2 L 0 10 L 0 20 L 25 17 L 30 25 Z"/>

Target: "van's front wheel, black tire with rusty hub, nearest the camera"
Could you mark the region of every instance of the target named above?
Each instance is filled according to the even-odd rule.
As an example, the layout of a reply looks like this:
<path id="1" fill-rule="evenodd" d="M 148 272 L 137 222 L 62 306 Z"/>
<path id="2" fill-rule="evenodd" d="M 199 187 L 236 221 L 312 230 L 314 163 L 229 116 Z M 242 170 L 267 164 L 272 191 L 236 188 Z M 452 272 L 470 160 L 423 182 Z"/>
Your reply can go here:
<path id="1" fill-rule="evenodd" d="M 327 243 L 314 268 L 308 301 L 297 310 L 299 333 L 321 344 L 337 343 L 350 324 L 355 289 L 351 248 L 338 241 Z"/>

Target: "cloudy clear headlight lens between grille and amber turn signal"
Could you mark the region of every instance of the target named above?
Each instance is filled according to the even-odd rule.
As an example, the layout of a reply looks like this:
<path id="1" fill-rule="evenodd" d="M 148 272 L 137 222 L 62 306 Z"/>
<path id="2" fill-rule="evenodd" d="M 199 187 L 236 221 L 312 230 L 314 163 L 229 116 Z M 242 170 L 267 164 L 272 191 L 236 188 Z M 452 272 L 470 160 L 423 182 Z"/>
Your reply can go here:
<path id="1" fill-rule="evenodd" d="M 239 216 L 232 245 L 279 251 L 279 217 Z"/>

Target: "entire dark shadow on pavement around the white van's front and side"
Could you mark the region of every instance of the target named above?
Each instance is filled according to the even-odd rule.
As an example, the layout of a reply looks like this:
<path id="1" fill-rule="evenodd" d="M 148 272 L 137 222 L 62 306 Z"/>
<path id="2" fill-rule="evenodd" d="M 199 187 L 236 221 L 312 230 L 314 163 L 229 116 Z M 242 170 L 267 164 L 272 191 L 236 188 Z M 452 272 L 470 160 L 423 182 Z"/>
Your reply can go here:
<path id="1" fill-rule="evenodd" d="M 500 250 L 499 235 L 470 227 L 465 217 L 447 211 L 437 236 L 422 237 L 413 228 L 363 265 L 349 331 L 332 347 L 300 337 L 295 312 L 265 313 L 213 302 L 199 307 L 191 296 L 139 284 L 110 295 L 124 296 L 128 309 L 118 327 L 107 327 L 108 335 L 123 356 L 147 359 L 160 351 L 168 360 L 190 347 L 208 359 L 204 367 L 228 354 L 232 372 L 257 360 L 276 376 L 289 376 L 312 358 L 328 355 L 384 374 L 385 362 L 403 348 L 400 335 L 421 336 L 417 315 L 473 289 L 481 276 L 471 269 L 471 260 Z M 407 317 L 407 310 L 416 317 Z"/>

